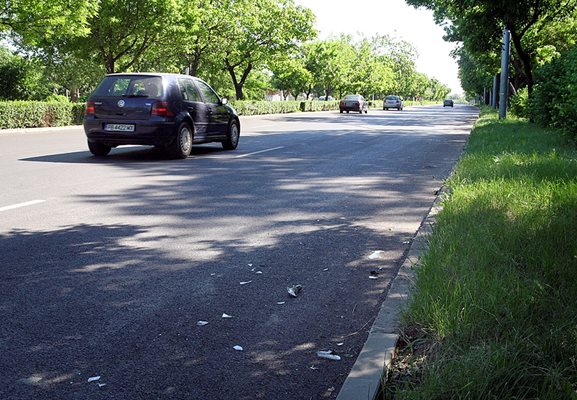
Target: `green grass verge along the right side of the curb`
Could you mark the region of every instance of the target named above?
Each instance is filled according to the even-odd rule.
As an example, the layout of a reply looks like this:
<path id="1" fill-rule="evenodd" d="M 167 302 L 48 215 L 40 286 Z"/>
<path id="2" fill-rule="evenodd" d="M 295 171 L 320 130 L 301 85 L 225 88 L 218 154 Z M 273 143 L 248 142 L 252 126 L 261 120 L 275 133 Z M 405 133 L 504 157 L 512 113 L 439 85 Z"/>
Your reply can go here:
<path id="1" fill-rule="evenodd" d="M 574 146 L 484 110 L 447 187 L 385 397 L 577 399 Z"/>

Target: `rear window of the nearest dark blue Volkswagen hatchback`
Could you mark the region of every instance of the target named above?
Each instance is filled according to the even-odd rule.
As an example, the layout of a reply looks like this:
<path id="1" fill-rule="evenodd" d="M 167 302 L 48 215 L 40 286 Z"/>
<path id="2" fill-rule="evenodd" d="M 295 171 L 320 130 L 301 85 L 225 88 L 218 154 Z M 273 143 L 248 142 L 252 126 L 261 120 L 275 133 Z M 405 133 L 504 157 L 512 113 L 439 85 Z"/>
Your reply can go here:
<path id="1" fill-rule="evenodd" d="M 96 96 L 152 97 L 162 96 L 160 76 L 119 75 L 107 76 L 94 91 Z"/>

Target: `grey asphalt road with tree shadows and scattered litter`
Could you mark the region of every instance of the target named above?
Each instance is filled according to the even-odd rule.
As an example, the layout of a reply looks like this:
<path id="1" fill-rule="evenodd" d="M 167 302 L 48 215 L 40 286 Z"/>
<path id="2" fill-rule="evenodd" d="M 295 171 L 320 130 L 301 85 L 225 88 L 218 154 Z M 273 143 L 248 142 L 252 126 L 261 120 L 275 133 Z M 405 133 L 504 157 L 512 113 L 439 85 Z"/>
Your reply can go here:
<path id="1" fill-rule="evenodd" d="M 245 117 L 186 160 L 0 133 L 0 398 L 336 397 L 476 116 Z"/>

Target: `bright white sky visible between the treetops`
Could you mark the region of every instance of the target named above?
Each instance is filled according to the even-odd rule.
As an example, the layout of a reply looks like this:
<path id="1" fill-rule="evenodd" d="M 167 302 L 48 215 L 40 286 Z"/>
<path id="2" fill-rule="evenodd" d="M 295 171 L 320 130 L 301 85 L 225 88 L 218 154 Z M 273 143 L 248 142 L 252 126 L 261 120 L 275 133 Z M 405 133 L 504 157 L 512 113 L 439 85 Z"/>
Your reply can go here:
<path id="1" fill-rule="evenodd" d="M 341 33 L 371 37 L 389 35 L 411 43 L 418 51 L 417 71 L 463 92 L 457 62 L 450 56 L 455 47 L 443 40 L 443 28 L 436 25 L 432 11 L 415 9 L 404 0 L 295 0 L 316 15 L 320 38 Z"/>

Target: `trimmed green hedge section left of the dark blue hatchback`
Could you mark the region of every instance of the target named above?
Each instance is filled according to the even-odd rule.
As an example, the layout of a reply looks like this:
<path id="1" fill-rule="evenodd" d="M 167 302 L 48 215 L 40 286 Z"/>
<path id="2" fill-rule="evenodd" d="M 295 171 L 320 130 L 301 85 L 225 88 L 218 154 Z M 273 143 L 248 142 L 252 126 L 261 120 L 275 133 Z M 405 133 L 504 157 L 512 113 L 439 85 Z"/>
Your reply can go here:
<path id="1" fill-rule="evenodd" d="M 0 129 L 81 124 L 84 108 L 84 103 L 2 101 Z"/>

